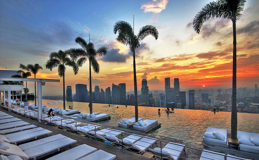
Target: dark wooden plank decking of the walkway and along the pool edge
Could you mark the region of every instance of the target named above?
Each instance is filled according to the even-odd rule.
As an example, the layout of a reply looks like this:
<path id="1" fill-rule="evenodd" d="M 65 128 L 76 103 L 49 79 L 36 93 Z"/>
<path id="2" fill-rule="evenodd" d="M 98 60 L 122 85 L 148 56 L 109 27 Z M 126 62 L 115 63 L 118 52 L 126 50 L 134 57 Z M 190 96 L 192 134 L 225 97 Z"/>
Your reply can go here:
<path id="1" fill-rule="evenodd" d="M 63 134 L 65 136 L 68 136 L 72 139 L 77 140 L 77 143 L 75 145 L 73 145 L 72 147 L 75 147 L 75 146 L 78 146 L 78 145 L 81 145 L 81 144 L 87 144 L 87 145 L 93 146 L 97 149 L 102 149 L 102 150 L 104 150 L 108 153 L 116 155 L 116 159 L 140 159 L 140 160 L 149 159 L 149 158 L 146 158 L 144 156 L 141 156 L 141 155 L 138 155 L 136 153 L 132 153 L 132 152 L 120 149 L 120 148 L 115 147 L 115 146 L 107 145 L 107 144 L 104 144 L 102 142 L 92 140 L 90 138 L 82 137 L 82 136 L 79 136 L 77 134 L 74 134 L 74 133 L 71 133 L 71 132 L 68 132 L 68 131 L 64 131 L 64 130 L 61 130 L 59 128 L 55 128 L 53 126 L 49 126 L 47 124 L 39 123 L 39 122 L 37 122 L 33 119 L 29 119 L 29 118 L 17 115 L 16 113 L 8 112 L 4 109 L 0 109 L 0 111 L 6 112 L 10 115 L 13 115 L 14 117 L 18 117 L 18 118 L 22 119 L 23 121 L 34 124 L 38 127 L 42 127 L 42 128 L 46 128 L 48 130 L 51 130 L 53 132 L 52 135 Z M 64 118 L 67 119 L 69 117 L 64 117 Z M 80 119 L 77 119 L 77 121 L 85 122 L 85 121 L 80 120 Z M 229 148 L 224 148 L 224 147 L 220 147 L 220 146 L 208 145 L 208 144 L 204 144 L 204 143 L 197 144 L 197 143 L 185 142 L 185 141 L 177 140 L 177 139 L 174 139 L 174 138 L 167 138 L 167 137 L 163 137 L 163 136 L 155 136 L 155 135 L 152 135 L 152 134 L 146 134 L 146 133 L 143 133 L 143 132 L 138 132 L 138 131 L 127 129 L 127 128 L 119 128 L 118 126 L 117 127 L 108 126 L 108 125 L 102 125 L 100 123 L 91 123 L 91 124 L 102 126 L 103 128 L 123 130 L 125 132 L 132 133 L 132 134 L 139 134 L 139 135 L 142 135 L 142 136 L 157 138 L 159 140 L 163 140 L 163 141 L 167 141 L 167 142 L 175 142 L 175 143 L 179 143 L 179 144 L 185 144 L 186 146 L 201 149 L 201 150 L 206 149 L 206 150 L 210 150 L 210 151 L 215 151 L 215 152 L 219 152 L 219 153 L 225 153 L 225 154 L 237 156 L 237 157 L 240 157 L 240 158 L 259 160 L 259 154 L 257 154 L 257 153 L 238 151 L 237 149 L 234 149 L 234 148 L 229 149 Z M 123 136 L 125 137 L 125 136 L 127 136 L 127 134 L 125 133 L 125 134 L 123 134 Z M 174 135 L 172 133 L 172 137 L 173 136 Z M 118 137 L 118 138 L 120 138 L 120 137 Z M 162 142 L 161 144 L 162 144 L 162 147 L 166 145 L 165 142 Z M 160 145 L 160 142 L 158 142 L 158 145 Z M 152 148 L 154 148 L 154 147 L 156 147 L 156 146 L 154 145 Z M 198 150 L 195 150 L 195 149 L 190 149 L 190 148 L 186 148 L 185 153 L 186 154 L 181 155 L 180 160 L 185 160 L 186 158 L 187 159 L 199 159 L 199 156 L 201 155 L 201 151 L 198 151 Z M 56 155 L 56 154 L 52 154 L 48 157 L 51 157 L 51 156 Z"/>

